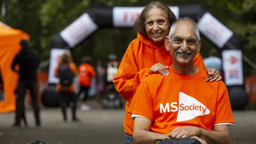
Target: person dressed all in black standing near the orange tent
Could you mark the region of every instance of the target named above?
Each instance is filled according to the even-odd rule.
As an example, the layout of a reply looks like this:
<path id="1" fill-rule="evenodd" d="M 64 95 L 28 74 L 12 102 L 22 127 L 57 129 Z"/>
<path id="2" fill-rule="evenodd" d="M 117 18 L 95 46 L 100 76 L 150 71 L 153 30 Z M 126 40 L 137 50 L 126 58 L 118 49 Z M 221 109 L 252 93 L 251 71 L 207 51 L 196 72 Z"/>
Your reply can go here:
<path id="1" fill-rule="evenodd" d="M 24 99 L 27 89 L 30 92 L 32 105 L 34 108 L 36 126 L 40 126 L 41 122 L 39 118 L 39 106 L 37 100 L 37 68 L 39 66 L 40 58 L 37 52 L 29 48 L 28 42 L 25 39 L 21 40 L 20 45 L 21 50 L 15 56 L 12 63 L 12 70 L 19 74 L 19 82 L 16 90 L 17 100 L 15 122 L 13 126 L 20 126 L 21 119 L 25 118 Z M 15 70 L 16 65 L 19 65 L 18 71 Z"/>

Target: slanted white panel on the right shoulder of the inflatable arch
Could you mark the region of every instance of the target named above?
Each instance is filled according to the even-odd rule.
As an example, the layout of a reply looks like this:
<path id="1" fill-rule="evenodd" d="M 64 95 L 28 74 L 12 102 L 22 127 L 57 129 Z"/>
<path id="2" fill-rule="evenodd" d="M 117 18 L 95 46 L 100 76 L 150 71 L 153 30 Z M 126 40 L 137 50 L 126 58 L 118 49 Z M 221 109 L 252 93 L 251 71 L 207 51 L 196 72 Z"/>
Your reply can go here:
<path id="1" fill-rule="evenodd" d="M 209 12 L 203 15 L 201 20 L 198 21 L 197 26 L 200 32 L 220 49 L 233 36 L 233 31 L 224 26 Z"/>

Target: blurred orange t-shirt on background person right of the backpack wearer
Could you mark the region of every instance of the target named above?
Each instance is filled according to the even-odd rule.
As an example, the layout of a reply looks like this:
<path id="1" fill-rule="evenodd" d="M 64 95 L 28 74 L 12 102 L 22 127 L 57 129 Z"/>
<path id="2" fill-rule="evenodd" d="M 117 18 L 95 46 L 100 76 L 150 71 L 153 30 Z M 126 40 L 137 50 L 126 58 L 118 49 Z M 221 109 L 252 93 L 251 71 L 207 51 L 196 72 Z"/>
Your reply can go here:
<path id="1" fill-rule="evenodd" d="M 82 63 L 78 67 L 78 82 L 81 86 L 90 86 L 91 79 L 96 75 L 94 68 L 88 63 Z"/>

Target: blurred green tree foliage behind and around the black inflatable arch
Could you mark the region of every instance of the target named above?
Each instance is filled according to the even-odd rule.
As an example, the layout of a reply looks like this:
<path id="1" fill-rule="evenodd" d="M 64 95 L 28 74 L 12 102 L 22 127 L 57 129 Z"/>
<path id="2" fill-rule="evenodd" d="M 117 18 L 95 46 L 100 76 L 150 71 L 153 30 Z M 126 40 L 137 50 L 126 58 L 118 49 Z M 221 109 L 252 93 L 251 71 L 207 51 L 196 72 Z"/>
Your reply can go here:
<path id="1" fill-rule="evenodd" d="M 243 38 L 244 53 L 256 61 L 256 1 L 255 0 L 163 0 L 168 5 L 201 4 L 214 17 Z M 138 0 L 9 0 L 7 1 L 7 21 L 11 27 L 22 29 L 31 36 L 31 45 L 41 53 L 42 61 L 50 57 L 51 38 L 71 22 L 95 5 L 103 6 L 143 6 L 149 1 Z M 122 58 L 127 46 L 136 35 L 132 29 L 101 29 L 73 51 L 74 60 L 80 62 L 84 55 L 94 60 L 105 60 L 107 54 L 117 53 Z M 201 54 L 207 57 L 212 43 L 203 37 Z M 251 67 L 248 67 L 251 68 Z M 47 70 L 47 69 L 45 69 Z"/>

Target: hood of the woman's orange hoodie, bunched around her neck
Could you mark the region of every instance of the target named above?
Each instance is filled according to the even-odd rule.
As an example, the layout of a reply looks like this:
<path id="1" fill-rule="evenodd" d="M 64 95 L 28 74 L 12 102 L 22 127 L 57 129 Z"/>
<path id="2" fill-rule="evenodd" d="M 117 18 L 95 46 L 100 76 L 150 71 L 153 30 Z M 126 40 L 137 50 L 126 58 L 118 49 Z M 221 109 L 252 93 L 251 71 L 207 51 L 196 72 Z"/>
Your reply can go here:
<path id="1" fill-rule="evenodd" d="M 137 34 L 137 38 L 139 39 L 139 41 L 143 44 L 145 44 L 147 47 L 149 47 L 151 49 L 151 53 L 152 53 L 152 58 L 154 60 L 154 62 L 156 63 L 156 55 L 155 55 L 155 50 L 158 49 L 160 51 L 165 51 L 166 54 L 169 54 L 169 52 L 166 51 L 165 49 L 165 45 L 164 43 L 162 45 L 156 45 L 150 38 L 148 38 L 147 36 L 143 36 L 141 34 Z"/>

